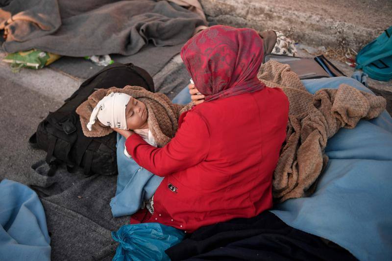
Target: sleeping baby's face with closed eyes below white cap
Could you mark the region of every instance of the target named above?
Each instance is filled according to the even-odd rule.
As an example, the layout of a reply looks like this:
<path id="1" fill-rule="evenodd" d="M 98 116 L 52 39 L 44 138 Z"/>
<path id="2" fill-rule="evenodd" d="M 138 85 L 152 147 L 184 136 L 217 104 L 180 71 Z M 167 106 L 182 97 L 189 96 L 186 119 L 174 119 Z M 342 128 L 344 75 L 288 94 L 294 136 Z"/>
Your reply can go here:
<path id="1" fill-rule="evenodd" d="M 125 108 L 126 126 L 129 130 L 147 129 L 148 112 L 146 105 L 131 97 Z"/>

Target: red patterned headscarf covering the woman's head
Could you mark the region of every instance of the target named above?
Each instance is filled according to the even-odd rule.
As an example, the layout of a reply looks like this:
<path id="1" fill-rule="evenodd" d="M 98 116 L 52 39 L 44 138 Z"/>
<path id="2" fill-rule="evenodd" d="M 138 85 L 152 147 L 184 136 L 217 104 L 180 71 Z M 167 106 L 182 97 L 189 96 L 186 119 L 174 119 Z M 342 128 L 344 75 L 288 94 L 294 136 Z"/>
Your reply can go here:
<path id="1" fill-rule="evenodd" d="M 181 49 L 181 58 L 206 101 L 263 89 L 257 78 L 263 55 L 263 40 L 255 30 L 223 25 L 199 32 Z"/>

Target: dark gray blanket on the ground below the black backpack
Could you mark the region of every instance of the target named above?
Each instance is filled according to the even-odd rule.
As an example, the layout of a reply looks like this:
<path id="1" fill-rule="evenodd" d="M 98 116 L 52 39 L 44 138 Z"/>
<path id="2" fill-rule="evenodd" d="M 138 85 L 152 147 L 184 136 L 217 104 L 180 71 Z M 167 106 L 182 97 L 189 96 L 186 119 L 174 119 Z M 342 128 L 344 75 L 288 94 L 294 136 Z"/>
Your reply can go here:
<path id="1" fill-rule="evenodd" d="M 129 216 L 114 218 L 109 201 L 116 193 L 115 176 L 85 177 L 60 166 L 48 177 L 44 160 L 27 172 L 25 184 L 40 196 L 47 217 L 52 260 L 110 260 L 117 243 L 111 231 L 129 224 Z"/>

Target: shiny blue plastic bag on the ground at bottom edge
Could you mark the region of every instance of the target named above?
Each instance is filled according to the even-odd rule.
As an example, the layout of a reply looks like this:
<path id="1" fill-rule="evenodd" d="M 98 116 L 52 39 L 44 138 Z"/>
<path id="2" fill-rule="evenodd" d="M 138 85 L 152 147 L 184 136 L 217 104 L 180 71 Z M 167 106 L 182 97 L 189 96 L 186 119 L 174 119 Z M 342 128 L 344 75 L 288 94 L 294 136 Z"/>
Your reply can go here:
<path id="1" fill-rule="evenodd" d="M 165 250 L 184 238 L 179 229 L 159 223 L 124 225 L 112 237 L 120 245 L 113 261 L 170 260 Z"/>

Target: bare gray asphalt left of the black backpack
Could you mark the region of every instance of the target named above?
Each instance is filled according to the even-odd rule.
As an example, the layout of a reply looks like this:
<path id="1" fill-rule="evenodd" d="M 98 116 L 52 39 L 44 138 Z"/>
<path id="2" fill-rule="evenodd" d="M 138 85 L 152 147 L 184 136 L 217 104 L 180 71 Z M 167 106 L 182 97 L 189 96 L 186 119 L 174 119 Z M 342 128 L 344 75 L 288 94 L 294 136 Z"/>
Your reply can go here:
<path id="1" fill-rule="evenodd" d="M 28 139 L 48 112 L 62 103 L 4 77 L 0 85 L 0 180 L 23 181 L 30 166 L 46 156 L 30 148 Z"/>

